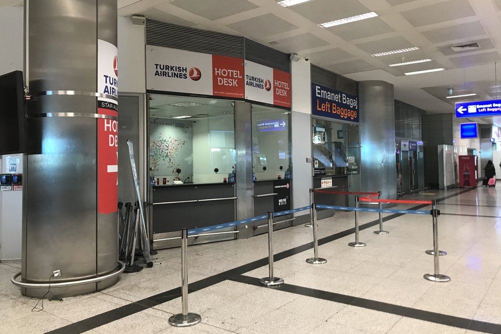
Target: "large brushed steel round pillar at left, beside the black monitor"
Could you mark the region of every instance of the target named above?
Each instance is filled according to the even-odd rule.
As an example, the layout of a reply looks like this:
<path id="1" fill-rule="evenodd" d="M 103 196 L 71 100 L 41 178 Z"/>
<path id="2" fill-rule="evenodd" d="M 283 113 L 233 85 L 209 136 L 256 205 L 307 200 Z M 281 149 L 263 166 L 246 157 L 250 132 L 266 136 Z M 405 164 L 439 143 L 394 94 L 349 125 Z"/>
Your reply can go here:
<path id="1" fill-rule="evenodd" d="M 57 269 L 62 274 L 52 277 L 51 283 L 109 274 L 117 270 L 117 213 L 98 209 L 98 125 L 104 125 L 103 118 L 109 122 L 116 116 L 97 109 L 102 93 L 98 80 L 103 77 L 98 75 L 98 58 L 103 54 L 100 47 L 98 57 L 98 44 L 104 42 L 112 50 L 117 45 L 117 2 L 26 0 L 25 6 L 32 100 L 24 168 L 22 281 L 48 283 Z M 116 65 L 113 56 L 105 61 Z M 116 66 L 111 69 L 116 72 Z M 114 100 L 113 93 L 105 97 Z M 115 194 L 111 192 L 110 203 Z M 114 276 L 51 291 L 76 295 L 116 280 Z M 22 289 L 28 296 L 46 292 L 46 288 Z"/>

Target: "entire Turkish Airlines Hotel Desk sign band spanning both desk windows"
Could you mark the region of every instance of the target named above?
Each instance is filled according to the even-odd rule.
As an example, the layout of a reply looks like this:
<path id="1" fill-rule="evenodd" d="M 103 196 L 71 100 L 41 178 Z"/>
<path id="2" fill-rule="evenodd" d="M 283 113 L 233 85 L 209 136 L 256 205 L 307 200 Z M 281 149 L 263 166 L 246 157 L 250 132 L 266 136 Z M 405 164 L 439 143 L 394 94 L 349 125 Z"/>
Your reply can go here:
<path id="1" fill-rule="evenodd" d="M 244 65 L 245 63 L 245 65 Z M 241 58 L 146 46 L 149 91 L 223 96 L 291 107 L 291 75 Z"/>

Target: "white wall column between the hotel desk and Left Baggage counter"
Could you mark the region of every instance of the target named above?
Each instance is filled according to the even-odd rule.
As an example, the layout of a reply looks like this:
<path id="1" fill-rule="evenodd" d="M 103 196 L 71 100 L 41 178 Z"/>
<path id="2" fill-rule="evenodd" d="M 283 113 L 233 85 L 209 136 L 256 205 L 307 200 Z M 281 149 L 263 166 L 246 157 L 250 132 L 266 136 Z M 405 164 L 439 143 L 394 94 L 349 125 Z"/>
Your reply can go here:
<path id="1" fill-rule="evenodd" d="M 294 207 L 310 204 L 309 189 L 312 188 L 312 127 L 311 127 L 311 72 L 310 62 L 300 59 L 291 62 L 292 77 L 292 177 Z M 309 211 L 295 213 L 304 216 L 295 224 L 309 221 Z"/>

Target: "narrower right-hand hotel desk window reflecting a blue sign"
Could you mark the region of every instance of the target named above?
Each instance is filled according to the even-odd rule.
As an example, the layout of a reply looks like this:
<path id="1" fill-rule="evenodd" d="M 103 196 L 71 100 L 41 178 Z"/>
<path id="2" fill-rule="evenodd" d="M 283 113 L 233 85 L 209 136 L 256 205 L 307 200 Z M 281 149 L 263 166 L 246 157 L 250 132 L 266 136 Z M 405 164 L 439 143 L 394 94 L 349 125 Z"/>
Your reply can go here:
<path id="1" fill-rule="evenodd" d="M 254 180 L 292 177 L 290 116 L 284 109 L 252 106 Z"/>

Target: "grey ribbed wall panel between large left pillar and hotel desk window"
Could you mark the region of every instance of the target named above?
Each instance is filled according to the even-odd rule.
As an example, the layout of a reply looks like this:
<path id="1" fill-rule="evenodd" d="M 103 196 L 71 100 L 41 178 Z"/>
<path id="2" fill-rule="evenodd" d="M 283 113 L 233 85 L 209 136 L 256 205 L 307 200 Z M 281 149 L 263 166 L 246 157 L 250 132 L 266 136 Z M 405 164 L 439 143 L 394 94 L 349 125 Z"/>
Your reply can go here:
<path id="1" fill-rule="evenodd" d="M 118 97 L 118 201 L 136 201 L 127 140 L 132 141 L 136 170 L 139 171 L 139 96 Z"/>

